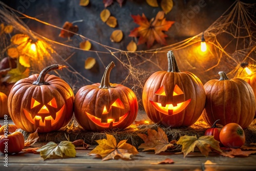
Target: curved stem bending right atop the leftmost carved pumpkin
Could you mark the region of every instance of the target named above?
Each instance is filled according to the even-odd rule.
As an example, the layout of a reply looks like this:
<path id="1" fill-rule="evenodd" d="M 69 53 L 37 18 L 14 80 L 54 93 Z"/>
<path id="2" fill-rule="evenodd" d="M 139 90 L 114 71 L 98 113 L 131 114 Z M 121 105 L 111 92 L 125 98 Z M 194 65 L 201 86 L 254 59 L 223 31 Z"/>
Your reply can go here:
<path id="1" fill-rule="evenodd" d="M 66 68 L 66 67 L 68 66 L 58 65 L 58 64 L 54 64 L 46 67 L 44 70 L 40 72 L 37 80 L 33 82 L 33 85 L 36 85 L 36 86 L 49 85 L 49 83 L 45 81 L 45 76 L 47 75 L 47 73 L 52 70 L 57 70 L 57 69 L 61 70 L 62 68 Z"/>

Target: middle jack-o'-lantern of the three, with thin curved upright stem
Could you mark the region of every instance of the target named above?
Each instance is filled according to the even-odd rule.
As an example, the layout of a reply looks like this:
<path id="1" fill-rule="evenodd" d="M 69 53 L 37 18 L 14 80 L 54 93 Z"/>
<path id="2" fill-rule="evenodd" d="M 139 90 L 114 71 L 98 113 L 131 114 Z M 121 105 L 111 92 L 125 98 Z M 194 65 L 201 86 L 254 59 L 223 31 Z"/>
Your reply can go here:
<path id="1" fill-rule="evenodd" d="M 124 129 L 137 117 L 135 93 L 121 84 L 110 83 L 113 67 L 114 62 L 106 67 L 101 83 L 84 86 L 76 93 L 74 114 L 84 130 Z"/>

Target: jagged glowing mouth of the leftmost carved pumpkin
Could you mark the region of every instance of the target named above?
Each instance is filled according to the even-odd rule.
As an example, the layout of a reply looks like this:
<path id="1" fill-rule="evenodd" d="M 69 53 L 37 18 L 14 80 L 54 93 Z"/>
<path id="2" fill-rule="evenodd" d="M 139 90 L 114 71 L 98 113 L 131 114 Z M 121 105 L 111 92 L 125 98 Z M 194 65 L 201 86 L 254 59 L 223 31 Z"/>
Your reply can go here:
<path id="1" fill-rule="evenodd" d="M 48 111 L 46 111 L 43 108 L 38 112 L 38 114 L 40 115 L 31 114 L 26 109 L 23 109 L 23 111 L 25 113 L 26 118 L 31 123 L 35 125 L 46 126 L 46 124 L 49 125 L 49 123 L 50 125 L 56 124 L 60 120 L 63 114 L 64 108 L 65 108 L 65 104 L 62 106 L 62 108 L 58 112 L 56 112 L 56 115 L 54 116 L 52 116 Z"/>

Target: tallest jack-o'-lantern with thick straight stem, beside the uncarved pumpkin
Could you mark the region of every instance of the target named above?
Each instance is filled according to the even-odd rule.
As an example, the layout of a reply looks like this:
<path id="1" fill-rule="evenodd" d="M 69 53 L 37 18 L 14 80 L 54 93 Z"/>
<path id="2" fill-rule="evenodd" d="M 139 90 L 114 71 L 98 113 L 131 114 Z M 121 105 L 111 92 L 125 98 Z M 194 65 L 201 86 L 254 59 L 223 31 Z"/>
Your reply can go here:
<path id="1" fill-rule="evenodd" d="M 166 127 L 194 124 L 205 104 L 203 84 L 190 72 L 180 72 L 175 56 L 168 51 L 168 71 L 158 71 L 145 82 L 142 102 L 147 116 Z"/>

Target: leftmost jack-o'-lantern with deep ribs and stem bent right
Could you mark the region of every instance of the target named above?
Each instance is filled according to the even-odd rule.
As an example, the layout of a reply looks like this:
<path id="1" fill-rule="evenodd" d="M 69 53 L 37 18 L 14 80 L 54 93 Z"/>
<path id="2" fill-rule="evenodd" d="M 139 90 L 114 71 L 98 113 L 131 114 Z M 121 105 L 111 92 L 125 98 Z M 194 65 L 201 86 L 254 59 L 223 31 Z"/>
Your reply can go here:
<path id="1" fill-rule="evenodd" d="M 66 66 L 51 65 L 38 75 L 17 81 L 8 97 L 13 122 L 22 130 L 47 133 L 68 124 L 73 115 L 74 93 L 67 82 L 51 70 Z"/>

